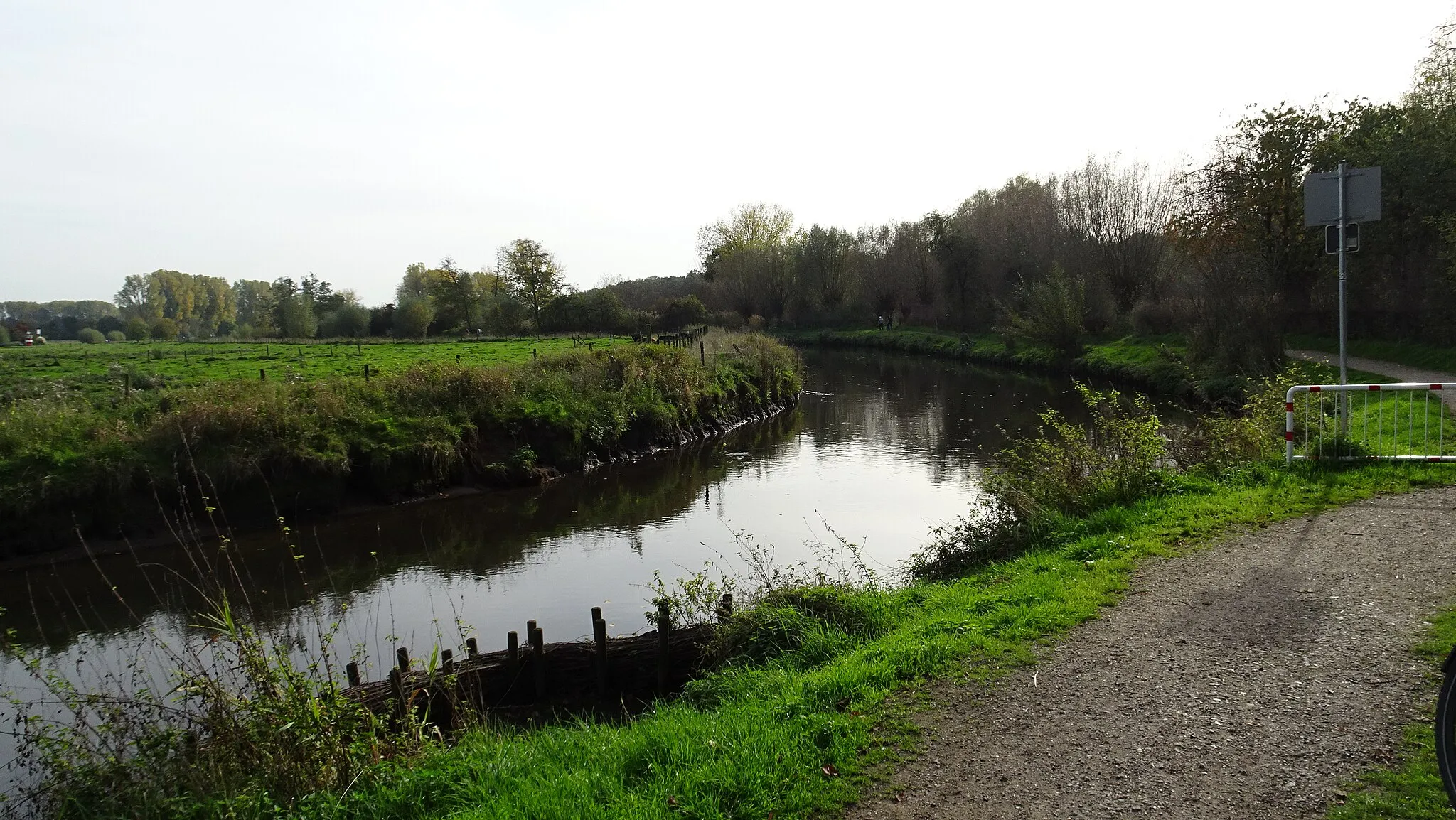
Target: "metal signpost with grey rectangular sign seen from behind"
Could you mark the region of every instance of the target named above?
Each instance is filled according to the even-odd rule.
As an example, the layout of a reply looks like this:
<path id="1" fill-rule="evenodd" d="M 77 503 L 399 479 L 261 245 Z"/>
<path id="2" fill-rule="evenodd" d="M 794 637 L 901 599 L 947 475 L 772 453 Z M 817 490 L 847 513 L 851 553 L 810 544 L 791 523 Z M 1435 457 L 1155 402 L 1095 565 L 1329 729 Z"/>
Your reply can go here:
<path id="1" fill-rule="evenodd" d="M 1345 258 L 1360 249 L 1358 229 L 1363 221 L 1380 218 L 1380 166 L 1350 167 L 1340 163 L 1334 173 L 1305 175 L 1305 227 L 1326 226 L 1335 229 L 1335 248 L 1340 253 L 1340 383 L 1348 385 L 1348 357 L 1345 355 Z M 1351 230 L 1351 227 L 1354 230 Z M 1351 248 L 1351 239 L 1354 246 Z M 1329 251 L 1325 239 L 1325 251 Z M 1345 433 L 1350 422 L 1348 403 L 1341 402 L 1340 431 Z"/>

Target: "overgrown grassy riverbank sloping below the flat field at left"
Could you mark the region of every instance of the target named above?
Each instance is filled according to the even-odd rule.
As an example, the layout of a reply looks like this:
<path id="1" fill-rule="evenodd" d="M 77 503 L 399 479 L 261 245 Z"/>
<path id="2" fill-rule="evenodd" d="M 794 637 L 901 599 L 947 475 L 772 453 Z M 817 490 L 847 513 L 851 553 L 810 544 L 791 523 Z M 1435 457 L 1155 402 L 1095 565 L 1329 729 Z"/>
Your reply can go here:
<path id="1" fill-rule="evenodd" d="M 153 486 L 166 500 L 179 475 L 192 485 L 194 470 L 230 513 L 250 495 L 291 513 L 453 482 L 534 481 L 794 401 L 801 373 L 791 350 L 763 336 L 716 344 L 706 364 L 699 351 L 655 345 L 540 358 L 521 348 L 524 360 L 511 364 L 450 357 L 397 363 L 367 380 L 352 368 L 208 379 L 111 401 L 58 387 L 0 409 L 4 545 L 15 552 L 44 540 L 25 540 L 35 530 L 77 524 L 108 535 L 138 505 L 156 508 Z"/>

